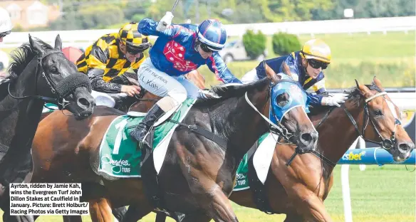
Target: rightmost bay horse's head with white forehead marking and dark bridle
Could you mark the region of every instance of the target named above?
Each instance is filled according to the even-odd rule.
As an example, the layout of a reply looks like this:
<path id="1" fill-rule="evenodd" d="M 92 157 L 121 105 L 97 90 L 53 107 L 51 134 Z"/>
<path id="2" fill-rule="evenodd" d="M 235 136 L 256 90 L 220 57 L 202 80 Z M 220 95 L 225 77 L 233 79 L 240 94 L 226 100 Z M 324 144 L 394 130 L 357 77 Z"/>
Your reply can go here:
<path id="1" fill-rule="evenodd" d="M 399 109 L 390 100 L 380 80 L 374 77 L 373 85 L 357 83 L 363 97 L 363 130 L 362 136 L 380 144 L 387 149 L 395 161 L 404 161 L 410 157 L 415 143 L 402 127 L 399 120 Z"/>

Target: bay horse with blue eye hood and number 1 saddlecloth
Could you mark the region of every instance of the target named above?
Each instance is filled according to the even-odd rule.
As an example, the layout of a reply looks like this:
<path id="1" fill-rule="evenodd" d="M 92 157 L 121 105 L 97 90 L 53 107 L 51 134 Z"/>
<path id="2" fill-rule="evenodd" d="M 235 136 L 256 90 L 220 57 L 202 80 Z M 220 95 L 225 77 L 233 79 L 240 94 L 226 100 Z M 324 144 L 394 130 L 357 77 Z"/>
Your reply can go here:
<path id="1" fill-rule="evenodd" d="M 264 120 L 270 103 L 284 107 L 299 100 L 298 95 L 291 97 L 290 92 L 273 95 L 274 89 L 279 89 L 280 79 L 271 68 L 266 70 L 268 75 L 263 80 L 249 85 L 212 88 L 220 98 L 199 100 L 192 106 L 182 122 L 202 127 L 217 138 L 221 135 L 226 145 L 222 147 L 189 132 L 189 127 L 178 127 L 157 175 L 160 189 L 164 191 L 165 206 L 162 208 L 183 213 L 204 212 L 201 221 L 207 219 L 205 214 L 216 221 L 238 221 L 227 196 L 234 187 L 239 162 L 256 139 L 271 130 L 271 122 Z M 297 87 L 301 90 L 299 85 Z M 301 149 L 311 150 L 318 134 L 304 107 L 293 107 L 273 129 L 285 137 L 287 135 L 282 132 L 290 132 L 293 134 L 291 141 Z M 130 204 L 140 206 L 139 217 L 152 211 L 157 206 L 147 199 L 142 179 L 110 181 L 95 174 L 90 166 L 90 159 L 98 155 L 105 130 L 119 115 L 123 112 L 110 107 L 96 107 L 88 120 L 81 121 L 58 116 L 57 112 L 48 115 L 39 124 L 33 139 L 31 182 L 82 183 L 83 200 L 90 201 L 93 221 L 112 221 L 110 208 Z M 152 158 L 147 160 L 150 165 L 152 161 Z M 142 171 L 142 178 L 144 174 Z M 105 205 L 108 207 L 98 208 Z"/>

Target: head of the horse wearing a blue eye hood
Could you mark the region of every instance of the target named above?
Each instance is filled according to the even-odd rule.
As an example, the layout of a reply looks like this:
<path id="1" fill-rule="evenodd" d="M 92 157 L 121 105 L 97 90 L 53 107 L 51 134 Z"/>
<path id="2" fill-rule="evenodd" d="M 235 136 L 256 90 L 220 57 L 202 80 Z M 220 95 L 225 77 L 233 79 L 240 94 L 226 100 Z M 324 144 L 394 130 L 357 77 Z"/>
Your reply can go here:
<path id="1" fill-rule="evenodd" d="M 311 152 L 318 141 L 318 132 L 308 115 L 308 96 L 298 82 L 281 73 L 276 75 L 269 66 L 264 63 L 268 78 L 273 83 L 271 89 L 271 109 L 269 116 L 276 125 L 287 129 L 301 152 Z"/>

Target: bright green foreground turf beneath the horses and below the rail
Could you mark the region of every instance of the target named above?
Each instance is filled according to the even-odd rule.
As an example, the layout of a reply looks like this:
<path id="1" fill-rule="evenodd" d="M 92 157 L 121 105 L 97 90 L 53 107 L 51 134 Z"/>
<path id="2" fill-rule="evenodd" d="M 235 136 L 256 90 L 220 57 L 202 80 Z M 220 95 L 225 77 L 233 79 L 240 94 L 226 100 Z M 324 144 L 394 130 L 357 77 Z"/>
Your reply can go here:
<path id="1" fill-rule="evenodd" d="M 412 166 L 408 166 L 412 169 Z M 343 200 L 340 184 L 340 166 L 334 172 L 334 185 L 324 202 L 333 221 L 343 222 Z M 360 222 L 414 222 L 415 172 L 405 166 L 367 166 L 360 171 L 358 166 L 350 166 L 350 195 L 353 208 L 353 221 Z M 242 222 L 283 221 L 285 216 L 266 215 L 258 210 L 244 208 L 233 203 L 234 211 Z M 62 221 L 61 216 L 41 216 L 38 221 Z M 83 221 L 90 221 L 88 216 Z M 141 221 L 155 221 L 155 214 Z M 173 220 L 168 220 L 173 221 Z"/>

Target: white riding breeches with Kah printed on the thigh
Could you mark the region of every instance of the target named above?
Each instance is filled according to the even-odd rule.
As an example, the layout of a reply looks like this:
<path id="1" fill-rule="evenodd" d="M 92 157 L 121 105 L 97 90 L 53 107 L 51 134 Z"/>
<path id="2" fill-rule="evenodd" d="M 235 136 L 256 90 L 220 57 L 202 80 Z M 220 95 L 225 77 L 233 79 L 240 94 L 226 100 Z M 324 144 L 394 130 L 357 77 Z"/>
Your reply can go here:
<path id="1" fill-rule="evenodd" d="M 175 106 L 180 105 L 187 98 L 197 99 L 199 88 L 189 82 L 183 75 L 170 76 L 158 70 L 147 58 L 137 70 L 137 78 L 140 87 L 150 93 L 165 97 L 169 96 L 175 101 Z"/>

